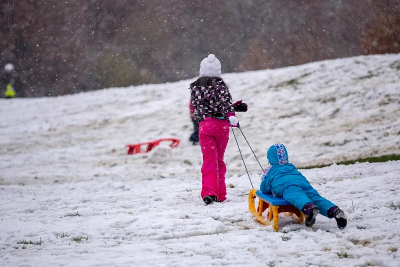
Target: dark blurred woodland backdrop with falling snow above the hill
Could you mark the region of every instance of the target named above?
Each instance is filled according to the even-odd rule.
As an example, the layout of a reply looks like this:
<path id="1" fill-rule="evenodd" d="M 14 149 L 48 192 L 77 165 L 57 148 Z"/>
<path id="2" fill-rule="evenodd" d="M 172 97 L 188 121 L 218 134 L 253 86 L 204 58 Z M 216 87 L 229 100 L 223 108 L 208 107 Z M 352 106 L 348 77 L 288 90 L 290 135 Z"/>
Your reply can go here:
<path id="1" fill-rule="evenodd" d="M 20 97 L 400 53 L 400 1 L 0 0 L 0 53 Z"/>

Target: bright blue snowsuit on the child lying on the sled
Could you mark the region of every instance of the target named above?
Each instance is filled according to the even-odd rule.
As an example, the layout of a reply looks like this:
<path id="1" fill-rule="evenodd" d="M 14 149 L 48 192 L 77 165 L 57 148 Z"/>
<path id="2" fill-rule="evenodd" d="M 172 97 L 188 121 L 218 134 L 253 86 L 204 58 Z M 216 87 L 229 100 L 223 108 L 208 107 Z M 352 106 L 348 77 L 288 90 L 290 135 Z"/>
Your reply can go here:
<path id="1" fill-rule="evenodd" d="M 321 215 L 328 217 L 328 209 L 335 204 L 321 197 L 297 168 L 289 163 L 283 144 L 270 146 L 267 159 L 271 166 L 266 168 L 261 176 L 262 193 L 283 197 L 298 210 L 311 202 L 319 208 Z"/>

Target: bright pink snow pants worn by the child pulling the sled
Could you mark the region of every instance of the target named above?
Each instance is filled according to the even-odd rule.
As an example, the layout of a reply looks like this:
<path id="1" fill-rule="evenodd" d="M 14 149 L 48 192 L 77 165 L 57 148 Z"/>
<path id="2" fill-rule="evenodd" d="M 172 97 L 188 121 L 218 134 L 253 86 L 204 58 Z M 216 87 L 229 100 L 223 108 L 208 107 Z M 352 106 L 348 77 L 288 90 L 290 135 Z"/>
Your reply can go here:
<path id="1" fill-rule="evenodd" d="M 223 154 L 229 140 L 229 123 L 225 120 L 206 117 L 200 122 L 198 138 L 203 154 L 201 166 L 201 198 L 214 195 L 218 201 L 226 199 L 226 166 Z"/>

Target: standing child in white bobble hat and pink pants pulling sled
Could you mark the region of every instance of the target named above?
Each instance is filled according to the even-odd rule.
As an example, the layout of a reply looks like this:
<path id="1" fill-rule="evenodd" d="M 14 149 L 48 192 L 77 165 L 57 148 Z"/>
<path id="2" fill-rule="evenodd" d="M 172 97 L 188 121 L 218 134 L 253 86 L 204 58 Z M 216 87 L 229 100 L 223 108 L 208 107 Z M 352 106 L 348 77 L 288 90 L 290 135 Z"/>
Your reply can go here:
<path id="1" fill-rule="evenodd" d="M 234 111 L 246 111 L 247 105 L 241 101 L 232 104 L 228 87 L 221 79 L 221 64 L 214 55 L 201 61 L 199 74 L 190 84 L 190 96 L 194 120 L 199 123 L 198 138 L 203 155 L 201 198 L 208 205 L 226 199 L 223 155 L 229 140 L 229 126 L 237 127 Z"/>

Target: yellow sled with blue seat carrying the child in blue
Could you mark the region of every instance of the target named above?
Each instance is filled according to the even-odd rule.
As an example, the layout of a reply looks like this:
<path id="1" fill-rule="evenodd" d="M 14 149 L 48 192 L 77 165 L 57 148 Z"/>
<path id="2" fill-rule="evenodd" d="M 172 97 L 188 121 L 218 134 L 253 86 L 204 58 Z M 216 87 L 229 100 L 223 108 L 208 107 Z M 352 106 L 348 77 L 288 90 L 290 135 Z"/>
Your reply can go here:
<path id="1" fill-rule="evenodd" d="M 254 204 L 254 199 L 256 197 L 258 197 L 257 209 L 255 209 Z M 268 207 L 267 218 L 264 218 L 262 217 L 262 212 Z M 255 189 L 251 189 L 248 193 L 248 209 L 258 222 L 264 225 L 270 225 L 272 222 L 275 231 L 279 231 L 278 215 L 281 212 L 286 212 L 286 214 L 295 219 L 297 223 L 302 223 L 304 221 L 304 214 L 283 198 L 270 194 L 263 194 L 261 191 Z"/>

